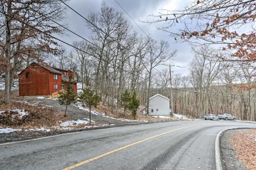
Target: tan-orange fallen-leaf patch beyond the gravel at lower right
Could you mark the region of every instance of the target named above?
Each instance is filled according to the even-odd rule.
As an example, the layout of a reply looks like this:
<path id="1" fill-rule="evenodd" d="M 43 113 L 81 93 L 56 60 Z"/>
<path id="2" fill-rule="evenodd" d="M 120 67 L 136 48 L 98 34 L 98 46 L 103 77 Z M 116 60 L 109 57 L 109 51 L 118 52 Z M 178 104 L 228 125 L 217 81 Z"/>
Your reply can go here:
<path id="1" fill-rule="evenodd" d="M 251 170 L 256 170 L 256 129 L 247 129 L 234 134 L 230 143 L 238 158 Z"/>

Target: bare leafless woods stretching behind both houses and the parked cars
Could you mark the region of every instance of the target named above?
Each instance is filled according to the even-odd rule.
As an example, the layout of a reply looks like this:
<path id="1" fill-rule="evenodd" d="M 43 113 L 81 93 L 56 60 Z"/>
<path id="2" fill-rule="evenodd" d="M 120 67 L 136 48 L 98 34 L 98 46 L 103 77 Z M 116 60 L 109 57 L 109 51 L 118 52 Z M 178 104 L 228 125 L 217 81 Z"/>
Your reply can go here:
<path id="1" fill-rule="evenodd" d="M 120 95 L 126 89 L 136 90 L 140 103 L 146 106 L 148 98 L 156 93 L 169 98 L 172 88 L 174 113 L 202 118 L 207 113 L 225 112 L 242 120 L 256 120 L 255 90 L 244 88 L 255 84 L 252 61 L 234 62 L 230 58 L 236 56 L 229 51 L 207 44 L 191 45 L 194 59 L 189 74 L 174 74 L 170 87 L 168 64 L 176 56 L 175 49 L 166 41 L 140 36 L 121 11 L 106 3 L 102 3 L 100 11 L 87 16 L 89 40 L 73 42 L 71 51 L 51 36 L 67 32 L 56 23 L 61 23 L 66 8 L 59 1 L 8 0 L 2 6 L 2 12 L 8 14 L 0 15 L 1 71 L 8 82 L 5 99 L 18 72 L 36 61 L 73 69 L 82 87 L 89 82 L 103 105 L 110 106 L 113 112 L 120 107 Z"/>

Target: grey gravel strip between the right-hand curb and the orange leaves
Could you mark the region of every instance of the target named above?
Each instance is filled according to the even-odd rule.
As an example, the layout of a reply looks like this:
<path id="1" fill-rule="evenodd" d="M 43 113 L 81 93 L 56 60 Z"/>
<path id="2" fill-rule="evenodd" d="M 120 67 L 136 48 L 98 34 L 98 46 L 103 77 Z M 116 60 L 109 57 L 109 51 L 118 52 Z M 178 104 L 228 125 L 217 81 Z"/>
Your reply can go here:
<path id="1" fill-rule="evenodd" d="M 246 167 L 244 162 L 239 158 L 237 149 L 234 148 L 232 140 L 238 133 L 246 134 L 248 129 L 232 129 L 225 131 L 221 136 L 221 153 L 222 153 L 222 163 L 224 170 L 250 170 Z M 244 145 L 247 147 L 247 145 Z M 254 168 L 255 169 L 255 168 Z"/>

